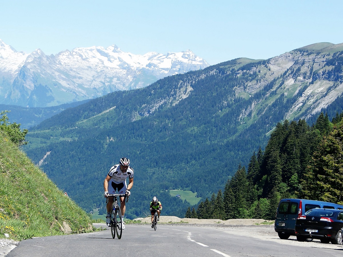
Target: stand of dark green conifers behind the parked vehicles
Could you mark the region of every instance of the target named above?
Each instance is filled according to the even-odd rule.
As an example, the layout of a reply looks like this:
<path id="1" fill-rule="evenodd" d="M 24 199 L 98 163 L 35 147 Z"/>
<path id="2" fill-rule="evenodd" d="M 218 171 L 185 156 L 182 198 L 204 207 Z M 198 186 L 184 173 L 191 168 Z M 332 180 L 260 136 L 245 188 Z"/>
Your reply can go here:
<path id="1" fill-rule="evenodd" d="M 280 199 L 343 204 L 343 113 L 278 123 L 265 151 L 253 154 L 211 199 L 190 206 L 186 218 L 273 220 Z M 192 209 L 192 211 L 191 211 Z"/>

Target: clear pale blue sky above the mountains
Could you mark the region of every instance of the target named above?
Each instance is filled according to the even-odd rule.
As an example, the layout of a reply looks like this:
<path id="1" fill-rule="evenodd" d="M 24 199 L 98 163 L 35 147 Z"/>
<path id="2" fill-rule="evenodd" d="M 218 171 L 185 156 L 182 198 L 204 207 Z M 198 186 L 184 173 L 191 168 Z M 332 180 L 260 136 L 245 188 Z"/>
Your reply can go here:
<path id="1" fill-rule="evenodd" d="M 117 45 L 134 54 L 192 50 L 211 65 L 343 43 L 343 1 L 0 0 L 0 39 L 56 54 Z"/>

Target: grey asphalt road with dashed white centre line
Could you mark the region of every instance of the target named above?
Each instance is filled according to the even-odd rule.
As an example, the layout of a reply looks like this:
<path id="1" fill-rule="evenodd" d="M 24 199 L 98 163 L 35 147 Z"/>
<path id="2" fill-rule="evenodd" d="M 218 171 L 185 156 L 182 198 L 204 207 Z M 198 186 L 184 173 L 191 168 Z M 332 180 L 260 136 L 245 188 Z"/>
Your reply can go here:
<path id="1" fill-rule="evenodd" d="M 161 224 L 154 231 L 149 225 L 126 225 L 120 240 L 113 239 L 110 230 L 32 238 L 21 241 L 7 256 L 343 256 L 341 246 L 325 248 L 313 242 L 302 246 L 279 241 L 277 234 L 269 241 L 215 227 Z"/>

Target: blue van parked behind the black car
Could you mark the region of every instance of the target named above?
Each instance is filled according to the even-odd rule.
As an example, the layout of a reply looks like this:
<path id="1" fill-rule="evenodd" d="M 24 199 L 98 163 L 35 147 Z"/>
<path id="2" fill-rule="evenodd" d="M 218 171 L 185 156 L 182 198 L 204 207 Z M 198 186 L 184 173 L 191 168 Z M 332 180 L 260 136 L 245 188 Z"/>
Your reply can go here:
<path id="1" fill-rule="evenodd" d="M 276 210 L 275 215 L 275 232 L 281 239 L 288 239 L 295 234 L 295 221 L 301 215 L 310 209 L 326 208 L 343 210 L 339 204 L 328 203 L 324 201 L 307 200 L 307 199 L 282 199 Z M 300 240 L 301 238 L 299 238 Z M 303 240 L 304 241 L 304 240 Z M 311 241 L 311 240 L 307 240 Z"/>

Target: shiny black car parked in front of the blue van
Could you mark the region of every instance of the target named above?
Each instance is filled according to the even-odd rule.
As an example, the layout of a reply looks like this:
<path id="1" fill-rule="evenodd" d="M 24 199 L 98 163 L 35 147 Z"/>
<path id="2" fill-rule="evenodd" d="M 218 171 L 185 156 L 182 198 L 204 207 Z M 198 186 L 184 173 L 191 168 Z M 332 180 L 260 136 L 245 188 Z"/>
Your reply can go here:
<path id="1" fill-rule="evenodd" d="M 311 209 L 297 218 L 295 233 L 298 241 L 316 238 L 322 243 L 342 244 L 343 210 Z"/>

